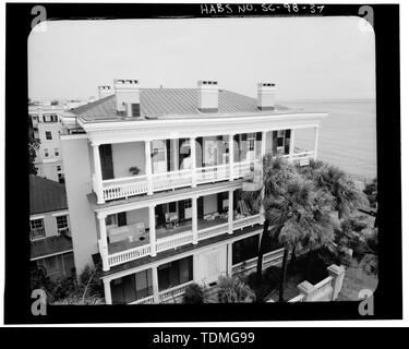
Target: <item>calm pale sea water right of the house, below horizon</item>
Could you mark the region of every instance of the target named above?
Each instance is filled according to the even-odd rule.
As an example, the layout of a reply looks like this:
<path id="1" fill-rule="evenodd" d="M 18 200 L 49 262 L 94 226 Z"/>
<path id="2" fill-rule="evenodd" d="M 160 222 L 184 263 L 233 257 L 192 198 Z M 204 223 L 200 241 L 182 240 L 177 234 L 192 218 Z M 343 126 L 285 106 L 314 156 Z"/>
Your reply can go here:
<path id="1" fill-rule="evenodd" d="M 325 111 L 318 135 L 318 159 L 336 165 L 356 179 L 376 177 L 375 100 L 291 101 L 286 106 Z M 314 131 L 297 130 L 296 147 L 314 148 Z"/>

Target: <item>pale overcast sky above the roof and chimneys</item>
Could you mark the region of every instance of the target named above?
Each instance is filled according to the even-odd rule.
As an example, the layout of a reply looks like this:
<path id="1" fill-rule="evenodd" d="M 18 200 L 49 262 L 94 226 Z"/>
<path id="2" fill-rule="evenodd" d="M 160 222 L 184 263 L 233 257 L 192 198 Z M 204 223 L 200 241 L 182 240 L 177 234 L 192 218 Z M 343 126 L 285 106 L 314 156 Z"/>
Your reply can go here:
<path id="1" fill-rule="evenodd" d="M 264 17 L 47 22 L 28 37 L 28 96 L 88 99 L 98 85 L 195 87 L 199 80 L 278 100 L 375 98 L 375 40 L 362 19 Z"/>

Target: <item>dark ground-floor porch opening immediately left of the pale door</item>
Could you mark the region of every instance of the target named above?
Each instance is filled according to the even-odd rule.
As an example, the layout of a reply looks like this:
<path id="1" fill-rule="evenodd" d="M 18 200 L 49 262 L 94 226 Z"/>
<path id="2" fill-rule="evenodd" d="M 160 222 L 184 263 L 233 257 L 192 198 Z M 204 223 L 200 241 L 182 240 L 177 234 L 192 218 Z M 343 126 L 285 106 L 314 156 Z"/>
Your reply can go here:
<path id="1" fill-rule="evenodd" d="M 159 291 L 193 280 L 193 257 L 163 264 L 158 267 Z"/>

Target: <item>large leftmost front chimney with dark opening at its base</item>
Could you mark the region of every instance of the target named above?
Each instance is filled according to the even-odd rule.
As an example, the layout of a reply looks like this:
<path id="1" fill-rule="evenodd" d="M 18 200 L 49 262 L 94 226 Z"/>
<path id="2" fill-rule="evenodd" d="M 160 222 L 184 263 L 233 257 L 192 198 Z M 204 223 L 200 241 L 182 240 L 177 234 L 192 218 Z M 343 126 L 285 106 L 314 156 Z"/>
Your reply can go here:
<path id="1" fill-rule="evenodd" d="M 116 79 L 113 88 L 117 97 L 117 115 L 139 118 L 141 116 L 139 81 Z"/>

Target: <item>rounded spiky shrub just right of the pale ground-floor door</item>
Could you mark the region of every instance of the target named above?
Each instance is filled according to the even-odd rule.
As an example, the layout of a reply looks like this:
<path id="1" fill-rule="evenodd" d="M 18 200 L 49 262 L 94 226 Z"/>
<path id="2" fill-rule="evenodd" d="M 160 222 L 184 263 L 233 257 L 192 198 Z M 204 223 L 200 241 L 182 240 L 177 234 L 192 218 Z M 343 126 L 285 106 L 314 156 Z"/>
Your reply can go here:
<path id="1" fill-rule="evenodd" d="M 249 303 L 255 300 L 252 289 L 233 277 L 220 276 L 217 297 L 220 303 Z"/>

